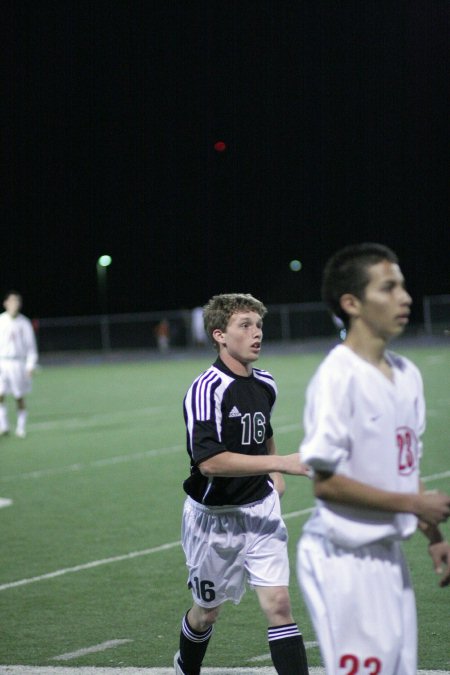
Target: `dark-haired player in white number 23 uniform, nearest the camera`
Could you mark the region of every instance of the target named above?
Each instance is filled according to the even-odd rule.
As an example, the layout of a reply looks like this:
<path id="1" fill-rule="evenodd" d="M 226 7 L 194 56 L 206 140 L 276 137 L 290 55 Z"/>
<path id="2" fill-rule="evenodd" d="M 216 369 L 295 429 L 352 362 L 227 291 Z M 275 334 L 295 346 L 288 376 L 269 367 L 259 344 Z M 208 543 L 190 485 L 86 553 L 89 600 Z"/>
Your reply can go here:
<path id="1" fill-rule="evenodd" d="M 448 585 L 450 546 L 438 523 L 450 497 L 421 487 L 422 379 L 386 349 L 411 298 L 396 255 L 379 244 L 338 251 L 322 295 L 347 333 L 307 391 L 300 452 L 317 499 L 298 546 L 299 582 L 327 675 L 416 675 L 415 599 L 400 541 L 419 526 Z"/>

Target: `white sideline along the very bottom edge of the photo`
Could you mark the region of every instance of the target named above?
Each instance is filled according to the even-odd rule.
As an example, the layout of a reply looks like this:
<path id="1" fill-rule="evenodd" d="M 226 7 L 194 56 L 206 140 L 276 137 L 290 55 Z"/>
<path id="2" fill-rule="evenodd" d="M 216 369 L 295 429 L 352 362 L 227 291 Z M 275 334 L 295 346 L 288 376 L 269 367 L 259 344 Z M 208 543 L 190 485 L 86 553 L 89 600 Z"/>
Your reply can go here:
<path id="1" fill-rule="evenodd" d="M 310 675 L 325 675 L 323 668 L 310 668 Z M 1 666 L 0 675 L 173 675 L 172 668 L 101 668 L 83 666 Z M 202 668 L 202 675 L 276 675 L 266 668 Z M 417 675 L 450 675 L 448 670 L 418 670 Z"/>

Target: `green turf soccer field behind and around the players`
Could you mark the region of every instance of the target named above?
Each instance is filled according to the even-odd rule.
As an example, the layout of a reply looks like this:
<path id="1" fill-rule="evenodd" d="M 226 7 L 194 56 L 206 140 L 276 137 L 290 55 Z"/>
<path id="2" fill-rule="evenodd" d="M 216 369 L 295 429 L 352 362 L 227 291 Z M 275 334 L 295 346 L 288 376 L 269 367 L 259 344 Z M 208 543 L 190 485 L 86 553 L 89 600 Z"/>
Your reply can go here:
<path id="1" fill-rule="evenodd" d="M 425 380 L 422 475 L 432 477 L 429 489 L 450 491 L 450 352 L 402 351 Z M 305 387 L 322 357 L 266 354 L 258 364 L 278 383 L 274 428 L 282 453 L 298 447 Z M 13 500 L 0 509 L 1 664 L 63 665 L 54 657 L 128 640 L 69 665 L 171 665 L 191 600 L 178 543 L 181 483 L 188 472 L 181 406 L 192 379 L 208 365 L 206 357 L 48 366 L 36 375 L 28 437 L 0 439 L 0 497 Z M 13 423 L 11 406 L 10 418 Z M 290 532 L 291 595 L 307 642 L 315 636 L 294 568 L 307 516 L 295 513 L 312 503 L 309 481 L 288 477 L 283 511 Z M 449 526 L 443 529 L 450 536 Z M 133 552 L 138 555 L 128 555 Z M 450 670 L 450 589 L 438 587 L 420 534 L 406 544 L 406 553 L 417 591 L 419 665 Z M 87 566 L 95 561 L 100 563 Z M 28 581 L 14 584 L 21 580 Z M 258 666 L 267 666 L 264 655 L 265 622 L 249 591 L 239 607 L 224 608 L 205 666 L 248 667 L 257 657 Z M 320 664 L 317 647 L 308 650 L 308 658 L 310 665 Z"/>

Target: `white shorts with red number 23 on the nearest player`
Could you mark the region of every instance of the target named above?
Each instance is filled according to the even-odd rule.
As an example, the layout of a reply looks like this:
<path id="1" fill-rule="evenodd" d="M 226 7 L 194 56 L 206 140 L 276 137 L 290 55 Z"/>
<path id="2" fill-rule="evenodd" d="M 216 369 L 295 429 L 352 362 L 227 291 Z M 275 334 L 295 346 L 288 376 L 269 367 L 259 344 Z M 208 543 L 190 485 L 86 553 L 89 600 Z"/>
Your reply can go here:
<path id="1" fill-rule="evenodd" d="M 327 675 L 417 675 L 416 604 L 399 542 L 351 550 L 303 534 L 297 574 Z"/>

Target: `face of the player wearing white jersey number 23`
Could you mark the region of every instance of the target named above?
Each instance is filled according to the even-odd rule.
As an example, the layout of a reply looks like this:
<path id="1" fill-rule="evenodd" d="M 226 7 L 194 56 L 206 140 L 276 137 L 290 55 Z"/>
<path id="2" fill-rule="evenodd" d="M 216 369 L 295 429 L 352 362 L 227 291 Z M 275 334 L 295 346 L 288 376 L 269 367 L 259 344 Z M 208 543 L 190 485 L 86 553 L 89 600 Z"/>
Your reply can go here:
<path id="1" fill-rule="evenodd" d="M 412 304 L 400 267 L 383 260 L 368 272 L 370 281 L 358 303 L 359 319 L 376 337 L 390 339 L 400 335 L 409 321 Z"/>

